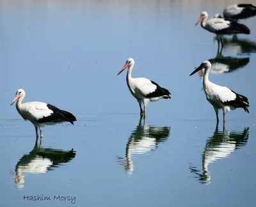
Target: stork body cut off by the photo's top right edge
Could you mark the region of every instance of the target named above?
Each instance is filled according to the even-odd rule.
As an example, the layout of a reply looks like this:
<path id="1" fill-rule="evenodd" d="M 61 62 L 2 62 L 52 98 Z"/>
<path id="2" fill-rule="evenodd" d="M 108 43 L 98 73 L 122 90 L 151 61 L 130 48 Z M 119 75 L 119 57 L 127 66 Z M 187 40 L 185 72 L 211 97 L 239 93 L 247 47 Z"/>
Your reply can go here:
<path id="1" fill-rule="evenodd" d="M 252 4 L 232 4 L 223 10 L 225 19 L 239 20 L 248 19 L 256 15 L 256 6 Z"/>

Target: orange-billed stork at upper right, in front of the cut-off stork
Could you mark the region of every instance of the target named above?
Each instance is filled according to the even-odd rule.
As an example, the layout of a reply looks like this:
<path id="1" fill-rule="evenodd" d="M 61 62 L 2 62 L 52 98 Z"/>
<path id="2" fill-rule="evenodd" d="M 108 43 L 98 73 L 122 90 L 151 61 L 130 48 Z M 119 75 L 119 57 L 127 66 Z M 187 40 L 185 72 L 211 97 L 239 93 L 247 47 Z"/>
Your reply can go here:
<path id="1" fill-rule="evenodd" d="M 208 13 L 203 11 L 195 25 L 201 22 L 201 26 L 204 29 L 210 33 L 215 33 L 218 38 L 218 48 L 220 47 L 220 42 L 223 47 L 223 35 L 250 34 L 250 29 L 244 24 L 239 24 L 233 20 L 225 20 L 223 18 L 212 18 L 207 20 L 207 17 Z"/>

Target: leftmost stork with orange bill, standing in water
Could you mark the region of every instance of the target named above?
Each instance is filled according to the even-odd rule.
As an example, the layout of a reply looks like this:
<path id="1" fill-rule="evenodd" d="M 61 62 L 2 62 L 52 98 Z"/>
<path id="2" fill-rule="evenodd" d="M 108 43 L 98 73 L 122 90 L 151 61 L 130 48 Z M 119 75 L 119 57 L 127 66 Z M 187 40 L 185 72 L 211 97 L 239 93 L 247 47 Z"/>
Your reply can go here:
<path id="1" fill-rule="evenodd" d="M 54 105 L 46 104 L 44 102 L 28 102 L 22 104 L 26 93 L 24 89 L 18 89 L 13 98 L 12 104 L 17 101 L 16 108 L 20 116 L 27 121 L 31 121 L 36 129 L 36 137 L 38 137 L 38 127 L 40 128 L 40 137 L 43 138 L 42 127 L 44 125 L 55 125 L 68 121 L 74 125 L 76 117 L 70 112 L 58 109 Z"/>

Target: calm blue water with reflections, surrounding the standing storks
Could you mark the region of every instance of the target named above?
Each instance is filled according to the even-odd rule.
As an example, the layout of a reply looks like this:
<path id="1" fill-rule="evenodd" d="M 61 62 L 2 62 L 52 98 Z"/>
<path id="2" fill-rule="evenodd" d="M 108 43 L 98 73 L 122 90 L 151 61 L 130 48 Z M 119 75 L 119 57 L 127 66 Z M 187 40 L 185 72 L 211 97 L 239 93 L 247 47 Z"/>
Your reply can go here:
<path id="1" fill-rule="evenodd" d="M 227 36 L 221 54 L 214 35 L 195 27 L 202 11 L 212 17 L 230 3 L 1 1 L 1 204 L 254 206 L 255 18 L 243 20 L 251 34 Z M 128 57 L 133 77 L 172 93 L 148 104 L 146 119 L 125 73 L 116 76 Z M 211 81 L 250 101 L 250 114 L 227 113 L 225 129 L 200 73 L 189 77 L 208 59 Z M 10 107 L 19 88 L 24 102 L 48 102 L 78 121 L 45 127 L 36 141 Z"/>

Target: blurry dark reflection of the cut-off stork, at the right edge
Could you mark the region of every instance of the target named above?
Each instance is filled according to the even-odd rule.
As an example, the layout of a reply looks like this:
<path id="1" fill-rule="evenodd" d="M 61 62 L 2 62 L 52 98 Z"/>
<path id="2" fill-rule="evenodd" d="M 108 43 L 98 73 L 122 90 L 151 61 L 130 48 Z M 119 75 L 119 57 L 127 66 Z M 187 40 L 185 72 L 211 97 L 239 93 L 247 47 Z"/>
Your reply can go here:
<path id="1" fill-rule="evenodd" d="M 233 38 L 222 38 L 225 52 L 230 54 L 250 54 L 256 52 L 256 43 L 247 38 L 238 38 L 233 36 Z M 214 42 L 218 39 L 214 37 Z"/>

